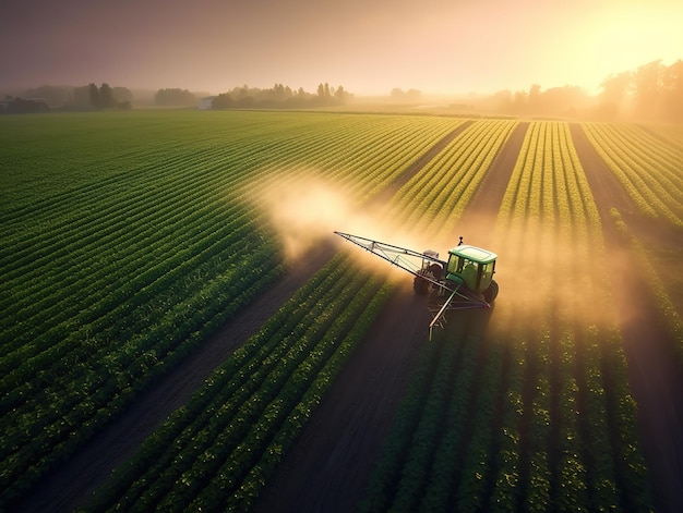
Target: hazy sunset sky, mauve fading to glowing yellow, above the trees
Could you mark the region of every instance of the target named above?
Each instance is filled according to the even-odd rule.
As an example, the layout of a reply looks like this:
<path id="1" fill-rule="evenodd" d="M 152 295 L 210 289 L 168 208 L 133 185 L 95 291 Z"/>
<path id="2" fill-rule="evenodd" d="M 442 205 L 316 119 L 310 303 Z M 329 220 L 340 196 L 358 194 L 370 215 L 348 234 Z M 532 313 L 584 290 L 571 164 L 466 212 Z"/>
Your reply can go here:
<path id="1" fill-rule="evenodd" d="M 683 0 L 2 0 L 0 87 L 595 93 L 682 27 Z"/>

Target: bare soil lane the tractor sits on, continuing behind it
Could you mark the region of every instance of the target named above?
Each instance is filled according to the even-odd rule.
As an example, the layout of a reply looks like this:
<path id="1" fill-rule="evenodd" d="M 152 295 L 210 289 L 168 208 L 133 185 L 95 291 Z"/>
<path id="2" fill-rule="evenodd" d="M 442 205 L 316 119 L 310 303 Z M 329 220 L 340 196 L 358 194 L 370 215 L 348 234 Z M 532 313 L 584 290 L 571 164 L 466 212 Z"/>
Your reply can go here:
<path id="1" fill-rule="evenodd" d="M 486 220 L 491 223 L 487 233 L 492 230 L 527 127 L 519 123 L 501 148 L 462 222 Z M 486 229 L 482 224 L 478 230 Z M 411 285 L 407 280 L 394 294 L 325 394 L 266 487 L 257 512 L 355 511 L 404 395 L 418 346 L 428 339 L 431 317 Z"/>

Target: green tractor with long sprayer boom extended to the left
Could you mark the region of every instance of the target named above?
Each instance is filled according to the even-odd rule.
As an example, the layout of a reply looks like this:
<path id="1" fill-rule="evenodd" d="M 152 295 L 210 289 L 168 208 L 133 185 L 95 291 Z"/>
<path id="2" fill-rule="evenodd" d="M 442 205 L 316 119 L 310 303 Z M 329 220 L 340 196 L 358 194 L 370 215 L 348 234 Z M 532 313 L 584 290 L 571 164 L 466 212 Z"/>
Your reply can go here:
<path id="1" fill-rule="evenodd" d="M 443 327 L 444 312 L 490 308 L 498 296 L 499 286 L 493 279 L 498 255 L 463 244 L 463 237 L 448 251 L 448 259 L 441 260 L 432 249 L 420 253 L 350 233 L 334 233 L 414 274 L 415 293 L 430 298 L 430 339 L 434 326 Z"/>

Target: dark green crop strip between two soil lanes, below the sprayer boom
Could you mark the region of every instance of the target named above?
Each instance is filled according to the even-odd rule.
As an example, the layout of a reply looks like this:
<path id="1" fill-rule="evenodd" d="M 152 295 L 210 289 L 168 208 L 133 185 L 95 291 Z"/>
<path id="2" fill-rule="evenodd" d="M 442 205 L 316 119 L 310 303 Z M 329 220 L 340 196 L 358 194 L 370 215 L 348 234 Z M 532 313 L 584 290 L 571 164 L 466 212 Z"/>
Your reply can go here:
<path id="1" fill-rule="evenodd" d="M 333 260 L 145 441 L 89 509 L 253 505 L 388 290 Z"/>

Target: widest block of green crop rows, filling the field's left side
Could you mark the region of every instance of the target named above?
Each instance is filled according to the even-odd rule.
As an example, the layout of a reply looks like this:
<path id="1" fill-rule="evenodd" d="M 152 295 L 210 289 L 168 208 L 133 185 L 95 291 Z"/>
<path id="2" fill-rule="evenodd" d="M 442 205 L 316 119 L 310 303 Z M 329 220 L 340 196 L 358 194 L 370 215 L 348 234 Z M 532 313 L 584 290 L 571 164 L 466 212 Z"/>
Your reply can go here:
<path id="1" fill-rule="evenodd" d="M 419 151 L 457 123 L 199 111 L 32 118 L 0 120 L 0 505 L 283 274 L 278 237 L 250 191 L 316 169 L 350 198 L 378 194 L 410 158 L 383 145 L 410 138 Z M 361 143 L 367 151 L 351 151 Z"/>

